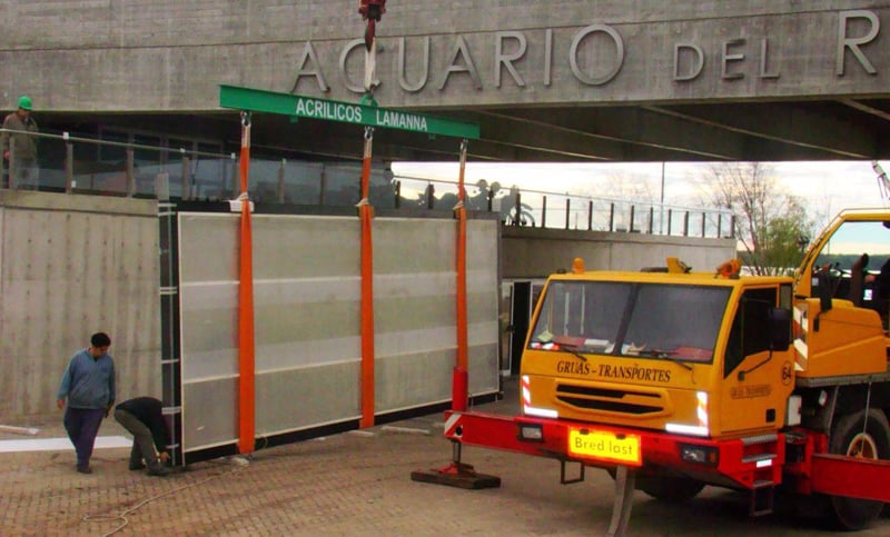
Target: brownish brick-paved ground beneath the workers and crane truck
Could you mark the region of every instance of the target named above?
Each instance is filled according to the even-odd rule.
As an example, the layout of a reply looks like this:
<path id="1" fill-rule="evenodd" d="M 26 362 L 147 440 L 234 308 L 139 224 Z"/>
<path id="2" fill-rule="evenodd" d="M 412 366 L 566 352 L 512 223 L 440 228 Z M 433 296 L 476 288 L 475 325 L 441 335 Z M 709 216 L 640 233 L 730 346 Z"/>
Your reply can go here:
<path id="1" fill-rule="evenodd" d="M 484 406 L 512 411 L 515 401 Z M 60 418 L 59 418 L 60 420 Z M 6 424 L 26 425 L 26 424 Z M 58 422 L 40 437 L 63 436 Z M 613 483 L 589 470 L 561 486 L 556 463 L 466 448 L 464 460 L 501 476 L 500 489 L 416 483 L 411 471 L 444 466 L 442 417 L 260 450 L 247 465 L 217 460 L 152 478 L 127 470 L 128 449 L 99 450 L 95 474 L 73 470 L 73 451 L 0 453 L 0 534 L 7 535 L 603 535 Z M 400 428 L 427 434 L 405 432 Z M 106 421 L 101 436 L 125 435 Z M 2 439 L 30 437 L 0 434 Z M 633 536 L 838 535 L 813 518 L 749 519 L 736 494 L 706 488 L 680 506 L 636 493 Z M 890 535 L 890 518 L 857 536 Z"/>

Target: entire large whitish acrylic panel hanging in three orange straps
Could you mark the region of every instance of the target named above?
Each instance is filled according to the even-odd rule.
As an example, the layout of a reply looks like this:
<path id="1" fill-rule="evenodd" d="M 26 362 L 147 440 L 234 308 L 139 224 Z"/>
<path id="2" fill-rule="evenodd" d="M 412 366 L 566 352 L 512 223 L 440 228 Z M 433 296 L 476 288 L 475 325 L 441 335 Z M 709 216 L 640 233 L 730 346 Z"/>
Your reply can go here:
<path id="1" fill-rule="evenodd" d="M 254 215 L 256 435 L 360 417 L 360 227 L 356 218 Z M 238 215 L 180 213 L 184 450 L 237 441 Z M 451 398 L 457 226 L 377 218 L 375 411 Z M 498 389 L 497 222 L 467 242 L 472 395 Z"/>

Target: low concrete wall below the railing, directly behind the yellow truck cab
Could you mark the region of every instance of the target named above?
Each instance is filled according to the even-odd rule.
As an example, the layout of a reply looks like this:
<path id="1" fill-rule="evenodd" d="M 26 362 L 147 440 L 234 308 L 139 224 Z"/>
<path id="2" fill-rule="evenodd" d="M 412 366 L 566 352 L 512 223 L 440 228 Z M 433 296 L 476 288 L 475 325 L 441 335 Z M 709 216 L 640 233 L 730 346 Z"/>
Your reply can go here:
<path id="1" fill-rule="evenodd" d="M 587 270 L 640 270 L 664 267 L 678 257 L 696 271 L 715 269 L 735 257 L 735 239 L 701 239 L 607 231 L 566 231 L 506 226 L 502 228 L 503 278 L 544 278 L 571 270 L 584 259 Z"/>

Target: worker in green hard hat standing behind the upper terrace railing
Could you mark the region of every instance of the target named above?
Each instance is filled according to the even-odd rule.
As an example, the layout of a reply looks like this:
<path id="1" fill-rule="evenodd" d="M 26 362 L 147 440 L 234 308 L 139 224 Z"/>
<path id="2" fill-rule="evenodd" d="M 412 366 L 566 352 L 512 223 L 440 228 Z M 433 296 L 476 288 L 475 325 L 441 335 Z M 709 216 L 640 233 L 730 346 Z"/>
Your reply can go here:
<path id="1" fill-rule="evenodd" d="M 0 147 L 9 166 L 10 178 L 19 188 L 38 188 L 40 168 L 37 166 L 37 121 L 31 117 L 31 98 L 19 97 L 19 108 L 3 120 Z M 7 132 L 7 130 L 18 131 Z M 21 132 L 21 133 L 19 133 Z M 9 186 L 9 185 L 4 185 Z"/>

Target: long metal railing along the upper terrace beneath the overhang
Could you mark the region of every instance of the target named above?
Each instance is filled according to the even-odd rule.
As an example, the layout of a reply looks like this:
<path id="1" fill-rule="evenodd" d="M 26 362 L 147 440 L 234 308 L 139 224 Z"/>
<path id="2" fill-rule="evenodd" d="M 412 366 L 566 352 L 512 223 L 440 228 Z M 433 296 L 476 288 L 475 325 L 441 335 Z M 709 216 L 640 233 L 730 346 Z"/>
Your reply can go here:
<path id="1" fill-rule="evenodd" d="M 2 188 L 89 192 L 181 200 L 225 200 L 240 190 L 235 153 L 197 151 L 0 129 L 0 137 L 37 138 L 39 158 L 24 161 L 9 145 L 0 159 Z M 250 159 L 250 199 L 258 203 L 350 207 L 359 201 L 359 162 Z M 725 209 L 696 209 L 646 201 L 576 196 L 532 189 L 501 189 L 484 181 L 465 186 L 471 211 L 498 212 L 507 226 L 624 231 L 691 237 L 733 237 Z M 370 202 L 380 209 L 451 210 L 457 182 L 396 177 L 374 167 Z"/>

